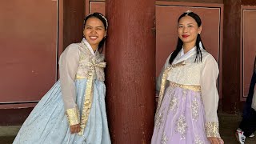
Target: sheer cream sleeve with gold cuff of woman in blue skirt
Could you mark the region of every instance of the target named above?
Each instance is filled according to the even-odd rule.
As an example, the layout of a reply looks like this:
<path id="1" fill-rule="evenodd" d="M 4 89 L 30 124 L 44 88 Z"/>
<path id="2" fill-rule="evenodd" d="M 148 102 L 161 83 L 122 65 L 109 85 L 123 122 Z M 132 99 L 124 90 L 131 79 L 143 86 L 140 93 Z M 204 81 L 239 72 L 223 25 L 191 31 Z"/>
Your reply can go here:
<path id="1" fill-rule="evenodd" d="M 70 126 L 80 123 L 79 110 L 76 105 L 76 88 L 74 82 L 75 75 L 78 70 L 78 62 L 78 46 L 71 44 L 62 53 L 59 60 L 62 98 Z"/>

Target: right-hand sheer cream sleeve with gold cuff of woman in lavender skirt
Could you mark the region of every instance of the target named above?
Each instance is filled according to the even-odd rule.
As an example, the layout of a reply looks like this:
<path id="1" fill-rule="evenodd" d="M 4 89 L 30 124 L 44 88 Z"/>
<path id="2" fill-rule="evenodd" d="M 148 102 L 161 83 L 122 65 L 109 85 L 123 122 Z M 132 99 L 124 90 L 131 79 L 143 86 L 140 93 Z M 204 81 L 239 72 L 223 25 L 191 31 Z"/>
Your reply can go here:
<path id="1" fill-rule="evenodd" d="M 220 138 L 218 131 L 218 90 L 216 81 L 218 78 L 218 64 L 214 57 L 208 55 L 202 70 L 200 85 L 202 101 L 206 113 L 206 134 L 207 137 Z"/>

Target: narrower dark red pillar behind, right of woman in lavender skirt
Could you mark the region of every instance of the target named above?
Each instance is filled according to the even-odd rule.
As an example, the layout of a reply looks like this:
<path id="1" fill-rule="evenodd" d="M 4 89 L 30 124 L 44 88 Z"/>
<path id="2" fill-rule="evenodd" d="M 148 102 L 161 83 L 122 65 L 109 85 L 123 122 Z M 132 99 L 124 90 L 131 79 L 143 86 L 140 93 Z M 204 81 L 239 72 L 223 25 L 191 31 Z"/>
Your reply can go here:
<path id="1" fill-rule="evenodd" d="M 224 1 L 222 102 L 228 113 L 234 113 L 240 102 L 240 6 L 241 1 Z"/>

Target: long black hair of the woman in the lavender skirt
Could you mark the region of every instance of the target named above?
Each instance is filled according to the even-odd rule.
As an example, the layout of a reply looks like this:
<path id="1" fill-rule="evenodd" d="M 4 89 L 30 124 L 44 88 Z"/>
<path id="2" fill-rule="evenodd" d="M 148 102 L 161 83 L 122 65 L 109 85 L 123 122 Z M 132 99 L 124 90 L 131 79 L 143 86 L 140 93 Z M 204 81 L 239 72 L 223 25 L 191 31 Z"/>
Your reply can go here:
<path id="1" fill-rule="evenodd" d="M 195 14 L 192 11 L 187 11 L 187 12 L 183 13 L 181 16 L 179 16 L 178 22 L 181 18 L 185 17 L 186 15 L 190 16 L 191 18 L 194 18 L 195 22 L 197 22 L 197 24 L 198 24 L 198 27 L 200 27 L 202 25 L 201 18 L 198 16 L 198 14 Z M 202 44 L 202 39 L 200 37 L 200 34 L 198 34 L 197 40 L 195 42 L 195 45 L 197 47 L 197 56 L 194 59 L 194 62 L 198 62 L 198 61 L 202 62 L 202 52 L 200 50 L 200 42 Z M 170 59 L 169 59 L 170 64 L 172 64 L 172 62 L 174 62 L 174 58 L 176 58 L 179 51 L 182 50 L 182 46 L 183 46 L 183 42 L 180 38 L 178 38 L 176 50 L 174 50 L 173 54 L 171 54 Z M 206 49 L 205 46 L 203 46 L 203 44 L 202 44 L 202 48 Z"/>

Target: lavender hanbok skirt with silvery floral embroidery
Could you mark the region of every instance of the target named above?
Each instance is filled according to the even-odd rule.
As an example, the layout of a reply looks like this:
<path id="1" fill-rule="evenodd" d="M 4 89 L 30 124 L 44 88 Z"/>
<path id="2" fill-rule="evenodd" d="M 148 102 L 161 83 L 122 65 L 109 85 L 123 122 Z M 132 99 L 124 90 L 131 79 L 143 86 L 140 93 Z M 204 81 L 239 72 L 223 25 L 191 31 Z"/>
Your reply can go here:
<path id="1" fill-rule="evenodd" d="M 200 90 L 172 84 L 155 116 L 151 144 L 210 144 Z"/>

